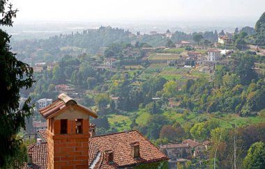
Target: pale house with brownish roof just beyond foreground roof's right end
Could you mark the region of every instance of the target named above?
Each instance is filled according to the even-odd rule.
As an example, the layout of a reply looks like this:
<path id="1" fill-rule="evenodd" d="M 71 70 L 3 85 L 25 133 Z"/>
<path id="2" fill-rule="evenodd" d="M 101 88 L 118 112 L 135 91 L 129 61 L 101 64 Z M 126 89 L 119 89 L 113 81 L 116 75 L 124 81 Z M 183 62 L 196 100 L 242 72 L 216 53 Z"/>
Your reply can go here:
<path id="1" fill-rule="evenodd" d="M 192 155 L 190 145 L 188 145 L 187 143 L 160 145 L 160 150 L 162 150 L 162 152 L 165 152 L 165 154 L 167 154 L 167 156 L 169 156 L 169 158 L 171 159 L 186 159 L 187 156 Z"/>

